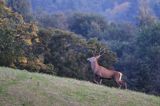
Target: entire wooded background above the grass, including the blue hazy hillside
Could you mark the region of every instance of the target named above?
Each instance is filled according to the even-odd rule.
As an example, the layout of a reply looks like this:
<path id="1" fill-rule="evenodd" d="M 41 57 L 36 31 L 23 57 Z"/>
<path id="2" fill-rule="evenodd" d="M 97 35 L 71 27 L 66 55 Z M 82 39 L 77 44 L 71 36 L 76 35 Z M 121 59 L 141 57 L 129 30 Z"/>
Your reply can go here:
<path id="1" fill-rule="evenodd" d="M 124 73 L 129 89 L 160 95 L 159 0 L 12 1 L 7 6 L 23 17 L 1 5 L 1 36 L 20 35 L 25 48 L 12 67 L 91 81 L 86 58 L 103 47 L 100 64 Z"/>

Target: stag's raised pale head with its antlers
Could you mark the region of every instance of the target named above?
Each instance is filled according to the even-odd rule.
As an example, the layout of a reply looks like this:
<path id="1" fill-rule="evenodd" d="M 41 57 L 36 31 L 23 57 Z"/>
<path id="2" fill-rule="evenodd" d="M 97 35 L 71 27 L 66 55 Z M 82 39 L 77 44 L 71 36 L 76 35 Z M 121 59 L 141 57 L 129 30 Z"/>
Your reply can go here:
<path id="1" fill-rule="evenodd" d="M 93 57 L 87 58 L 87 60 L 88 60 L 89 62 L 95 62 L 95 61 L 97 61 L 104 53 L 105 53 L 105 49 L 100 48 L 100 52 L 98 53 L 98 55 L 95 55 L 95 53 L 93 53 Z"/>

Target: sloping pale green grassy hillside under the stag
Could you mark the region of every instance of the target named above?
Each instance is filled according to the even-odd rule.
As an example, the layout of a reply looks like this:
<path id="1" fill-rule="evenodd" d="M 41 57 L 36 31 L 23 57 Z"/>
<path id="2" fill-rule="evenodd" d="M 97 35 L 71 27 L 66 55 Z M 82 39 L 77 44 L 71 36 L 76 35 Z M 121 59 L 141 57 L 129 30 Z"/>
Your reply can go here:
<path id="1" fill-rule="evenodd" d="M 160 106 L 160 97 L 1 67 L 0 106 Z"/>

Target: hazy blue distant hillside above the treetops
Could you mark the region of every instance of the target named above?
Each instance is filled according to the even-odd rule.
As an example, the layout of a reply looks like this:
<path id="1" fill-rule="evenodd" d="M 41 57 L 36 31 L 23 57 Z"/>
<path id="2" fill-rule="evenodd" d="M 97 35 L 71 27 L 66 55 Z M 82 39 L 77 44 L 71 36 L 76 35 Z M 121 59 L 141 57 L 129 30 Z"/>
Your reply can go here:
<path id="1" fill-rule="evenodd" d="M 141 3 L 150 8 L 159 17 L 159 0 L 30 0 L 34 13 L 93 13 L 99 14 L 113 22 L 136 23 Z M 145 3 L 146 2 L 146 3 Z M 146 7 L 145 6 L 145 7 Z"/>

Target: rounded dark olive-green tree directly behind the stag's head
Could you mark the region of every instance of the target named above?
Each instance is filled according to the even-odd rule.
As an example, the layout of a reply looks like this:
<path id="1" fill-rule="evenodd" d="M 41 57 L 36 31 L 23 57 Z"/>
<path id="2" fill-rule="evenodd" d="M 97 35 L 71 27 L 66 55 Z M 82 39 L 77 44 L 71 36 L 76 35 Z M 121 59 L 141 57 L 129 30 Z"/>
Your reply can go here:
<path id="1" fill-rule="evenodd" d="M 44 44 L 49 49 L 45 62 L 54 65 L 57 75 L 92 80 L 92 71 L 87 58 L 92 56 L 94 49 L 106 48 L 101 64 L 111 67 L 115 61 L 114 54 L 97 40 L 89 40 L 63 30 L 41 30 L 39 35 L 45 38 Z"/>

